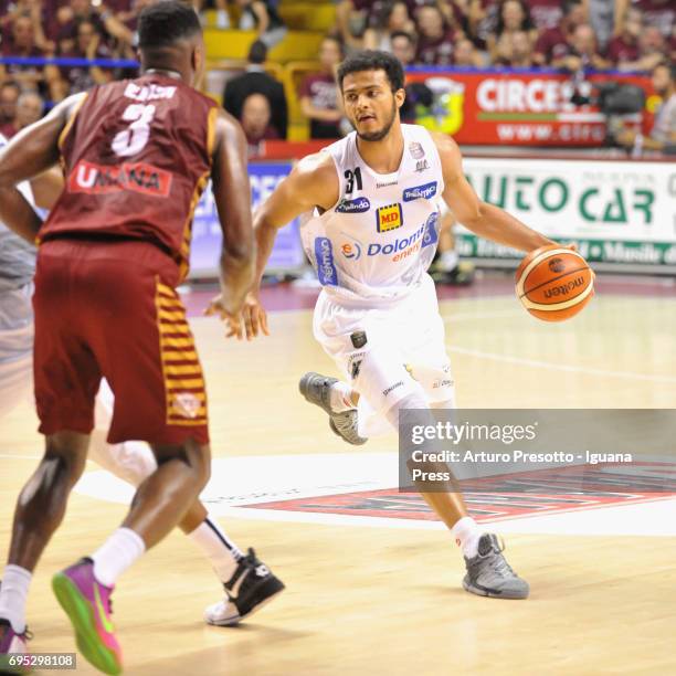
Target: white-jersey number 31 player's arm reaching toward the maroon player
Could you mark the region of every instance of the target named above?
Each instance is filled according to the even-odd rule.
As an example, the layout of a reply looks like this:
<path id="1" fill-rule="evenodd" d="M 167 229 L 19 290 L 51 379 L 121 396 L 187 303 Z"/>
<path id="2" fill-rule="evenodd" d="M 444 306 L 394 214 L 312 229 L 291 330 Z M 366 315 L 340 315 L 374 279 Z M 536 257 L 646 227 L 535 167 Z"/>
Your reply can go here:
<path id="1" fill-rule="evenodd" d="M 334 160 L 328 152 L 317 152 L 303 158 L 270 198 L 256 209 L 255 284 L 246 298 L 243 311 L 247 339 L 254 338 L 261 330 L 268 335 L 267 316 L 261 305 L 258 293 L 277 231 L 315 208 L 323 211 L 331 209 L 339 196 L 340 184 Z"/>

